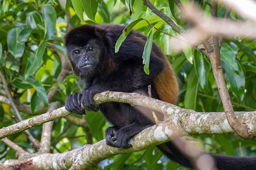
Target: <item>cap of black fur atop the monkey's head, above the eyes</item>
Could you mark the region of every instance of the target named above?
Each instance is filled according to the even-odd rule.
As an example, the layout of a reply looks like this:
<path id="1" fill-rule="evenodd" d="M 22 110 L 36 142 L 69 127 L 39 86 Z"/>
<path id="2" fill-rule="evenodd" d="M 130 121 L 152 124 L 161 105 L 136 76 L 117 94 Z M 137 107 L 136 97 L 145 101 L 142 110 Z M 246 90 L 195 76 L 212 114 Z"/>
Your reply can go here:
<path id="1" fill-rule="evenodd" d="M 98 37 L 95 34 L 95 26 L 84 25 L 70 30 L 64 37 L 65 45 L 84 46 L 89 41 L 95 40 Z"/>

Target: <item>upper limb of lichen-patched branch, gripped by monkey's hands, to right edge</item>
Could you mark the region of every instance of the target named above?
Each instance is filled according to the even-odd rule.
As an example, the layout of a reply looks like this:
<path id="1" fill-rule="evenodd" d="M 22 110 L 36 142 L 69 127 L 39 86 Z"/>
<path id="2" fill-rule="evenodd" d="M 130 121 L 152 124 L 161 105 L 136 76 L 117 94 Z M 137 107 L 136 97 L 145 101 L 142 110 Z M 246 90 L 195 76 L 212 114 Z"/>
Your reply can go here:
<path id="1" fill-rule="evenodd" d="M 189 134 L 207 133 L 207 134 L 222 134 L 233 133 L 231 128 L 226 127 L 228 123 L 223 112 L 196 112 L 194 110 L 180 108 L 178 106 L 166 103 L 161 100 L 149 98 L 138 93 L 125 93 L 125 92 L 101 92 L 94 95 L 94 101 L 97 104 L 105 103 L 109 101 L 129 103 L 132 106 L 139 105 L 150 108 L 152 110 L 161 112 L 164 114 L 164 121 L 170 123 L 179 124 Z M 45 122 L 53 121 L 55 119 L 65 117 L 71 113 L 60 107 L 51 112 L 47 112 L 43 115 L 18 122 L 14 125 L 0 129 L 0 138 L 10 136 L 14 133 L 35 127 Z M 253 134 L 256 131 L 256 115 L 254 112 L 236 112 L 237 118 L 247 125 L 248 133 Z M 198 122 L 194 121 L 199 119 Z M 192 122 L 189 122 L 192 121 Z M 213 125 L 214 122 L 214 125 Z M 203 127 L 201 127 L 203 126 Z M 212 129 L 213 127 L 213 129 Z M 255 136 L 253 136 L 255 137 Z"/>

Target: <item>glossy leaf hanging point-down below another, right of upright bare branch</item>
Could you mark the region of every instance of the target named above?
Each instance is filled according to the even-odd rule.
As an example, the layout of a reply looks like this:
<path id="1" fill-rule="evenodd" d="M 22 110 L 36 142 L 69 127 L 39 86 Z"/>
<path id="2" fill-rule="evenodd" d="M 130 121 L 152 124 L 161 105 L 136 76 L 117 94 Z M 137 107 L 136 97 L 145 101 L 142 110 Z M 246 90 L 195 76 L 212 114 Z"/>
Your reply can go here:
<path id="1" fill-rule="evenodd" d="M 222 62 L 223 68 L 227 74 L 232 94 L 241 102 L 244 99 L 245 77 L 241 65 L 235 61 L 238 71 L 231 70 L 230 67 Z"/>

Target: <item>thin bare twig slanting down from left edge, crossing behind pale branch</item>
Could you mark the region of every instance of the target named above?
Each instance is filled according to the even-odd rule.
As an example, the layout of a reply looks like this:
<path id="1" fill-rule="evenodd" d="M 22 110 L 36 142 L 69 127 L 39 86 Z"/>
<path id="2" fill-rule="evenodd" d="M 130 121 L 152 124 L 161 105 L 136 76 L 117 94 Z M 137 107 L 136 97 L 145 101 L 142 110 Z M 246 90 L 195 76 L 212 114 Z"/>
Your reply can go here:
<path id="1" fill-rule="evenodd" d="M 14 109 L 18 120 L 21 122 L 21 121 L 23 121 L 23 119 L 22 119 L 22 117 L 21 117 L 21 115 L 18 111 L 18 108 L 16 107 L 15 103 L 13 102 L 12 95 L 11 95 L 9 89 L 8 89 L 6 80 L 5 80 L 4 75 L 2 74 L 1 71 L 0 71 L 0 77 L 2 79 L 2 84 L 3 84 L 4 90 L 6 92 L 7 98 L 9 99 L 10 104 L 11 104 L 12 108 Z M 40 146 L 39 142 L 36 141 L 36 139 L 31 135 L 31 133 L 28 130 L 25 130 L 24 133 L 27 135 L 28 139 L 33 144 L 33 146 L 35 146 L 36 148 L 39 148 L 39 146 Z"/>

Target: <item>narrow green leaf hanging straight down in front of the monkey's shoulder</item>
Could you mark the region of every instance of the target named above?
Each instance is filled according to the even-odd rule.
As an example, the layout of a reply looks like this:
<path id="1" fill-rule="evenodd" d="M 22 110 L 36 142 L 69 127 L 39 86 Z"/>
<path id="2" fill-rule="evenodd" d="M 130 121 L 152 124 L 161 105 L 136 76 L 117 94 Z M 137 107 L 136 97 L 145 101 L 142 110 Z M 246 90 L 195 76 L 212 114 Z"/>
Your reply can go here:
<path id="1" fill-rule="evenodd" d="M 144 65 L 144 71 L 146 74 L 149 74 L 149 60 L 150 60 L 150 54 L 151 54 L 151 48 L 152 48 L 152 43 L 153 43 L 153 29 L 154 28 L 151 28 L 150 32 L 149 32 L 149 35 L 148 35 L 148 38 L 147 38 L 147 41 L 146 41 L 146 44 L 145 44 L 145 47 L 144 47 L 144 51 L 143 51 L 143 54 L 142 54 L 142 58 L 143 58 L 143 64 Z"/>

